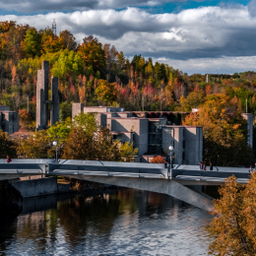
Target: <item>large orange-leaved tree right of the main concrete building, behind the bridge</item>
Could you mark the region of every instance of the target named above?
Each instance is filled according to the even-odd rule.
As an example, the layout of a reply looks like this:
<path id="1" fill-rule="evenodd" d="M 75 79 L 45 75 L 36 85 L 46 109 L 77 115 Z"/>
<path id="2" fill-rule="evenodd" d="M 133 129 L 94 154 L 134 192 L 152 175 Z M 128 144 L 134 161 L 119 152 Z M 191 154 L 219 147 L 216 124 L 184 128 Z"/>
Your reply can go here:
<path id="1" fill-rule="evenodd" d="M 254 160 L 247 145 L 247 124 L 239 109 L 237 98 L 211 95 L 206 97 L 197 113 L 189 114 L 182 122 L 183 125 L 203 127 L 203 157 L 206 162 L 237 166 Z"/>

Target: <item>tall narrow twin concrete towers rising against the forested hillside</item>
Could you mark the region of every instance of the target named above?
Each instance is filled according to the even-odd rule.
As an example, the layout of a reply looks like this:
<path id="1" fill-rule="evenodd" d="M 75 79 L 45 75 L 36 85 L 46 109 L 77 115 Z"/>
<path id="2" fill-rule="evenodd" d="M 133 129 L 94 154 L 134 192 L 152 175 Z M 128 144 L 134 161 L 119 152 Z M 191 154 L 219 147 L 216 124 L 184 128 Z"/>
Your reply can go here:
<path id="1" fill-rule="evenodd" d="M 59 121 L 58 78 L 51 77 L 51 99 L 48 96 L 49 62 L 42 61 L 41 70 L 37 70 L 36 84 L 36 129 L 48 127 L 48 104 L 50 107 L 50 125 Z"/>

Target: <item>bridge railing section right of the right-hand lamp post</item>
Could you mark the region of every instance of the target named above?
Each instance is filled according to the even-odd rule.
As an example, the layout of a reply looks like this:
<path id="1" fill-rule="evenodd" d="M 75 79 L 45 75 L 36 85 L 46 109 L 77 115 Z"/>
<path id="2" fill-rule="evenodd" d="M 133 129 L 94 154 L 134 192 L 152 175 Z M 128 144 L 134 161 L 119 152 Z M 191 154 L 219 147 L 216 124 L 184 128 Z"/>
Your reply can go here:
<path id="1" fill-rule="evenodd" d="M 215 171 L 215 170 L 191 170 L 191 169 L 171 169 L 170 177 L 177 176 L 199 176 L 199 177 L 213 177 L 213 178 L 227 178 L 231 175 L 236 178 L 250 178 L 250 172 L 230 172 L 230 171 Z"/>

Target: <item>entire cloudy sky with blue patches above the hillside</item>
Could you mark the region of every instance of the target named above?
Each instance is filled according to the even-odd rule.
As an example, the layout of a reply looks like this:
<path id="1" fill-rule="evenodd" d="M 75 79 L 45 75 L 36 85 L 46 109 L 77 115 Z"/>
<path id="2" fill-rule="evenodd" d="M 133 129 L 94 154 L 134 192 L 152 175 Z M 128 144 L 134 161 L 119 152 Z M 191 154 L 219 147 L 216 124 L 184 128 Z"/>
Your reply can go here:
<path id="1" fill-rule="evenodd" d="M 0 0 L 0 20 L 95 34 L 188 74 L 256 70 L 256 0 Z"/>

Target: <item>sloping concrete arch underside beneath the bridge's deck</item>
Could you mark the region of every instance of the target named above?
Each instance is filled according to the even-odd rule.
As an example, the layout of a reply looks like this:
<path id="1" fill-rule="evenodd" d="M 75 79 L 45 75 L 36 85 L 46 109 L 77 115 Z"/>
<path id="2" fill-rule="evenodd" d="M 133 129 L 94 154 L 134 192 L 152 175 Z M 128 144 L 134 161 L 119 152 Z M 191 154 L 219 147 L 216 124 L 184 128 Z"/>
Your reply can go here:
<path id="1" fill-rule="evenodd" d="M 82 180 L 94 181 L 103 184 L 115 185 L 140 189 L 145 191 L 166 194 L 191 204 L 200 209 L 211 212 L 214 210 L 213 198 L 190 187 L 186 187 L 175 180 L 151 179 L 139 177 L 111 177 L 111 176 L 87 176 L 87 175 L 67 175 L 66 177 Z"/>

